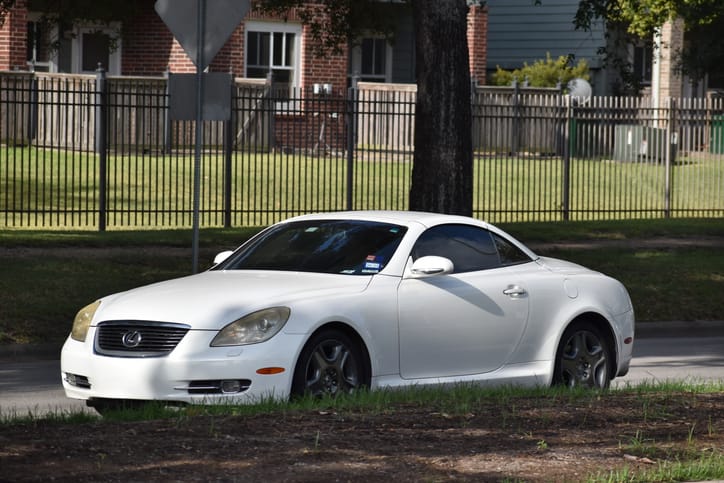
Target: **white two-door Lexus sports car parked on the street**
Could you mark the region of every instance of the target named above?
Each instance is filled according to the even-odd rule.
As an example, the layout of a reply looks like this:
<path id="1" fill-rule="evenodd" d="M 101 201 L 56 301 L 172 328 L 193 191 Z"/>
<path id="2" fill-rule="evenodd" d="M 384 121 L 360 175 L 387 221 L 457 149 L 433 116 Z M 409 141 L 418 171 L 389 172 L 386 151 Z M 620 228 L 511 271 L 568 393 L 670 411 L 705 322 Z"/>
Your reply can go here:
<path id="1" fill-rule="evenodd" d="M 300 216 L 215 263 L 81 309 L 66 394 L 103 412 L 413 384 L 604 388 L 631 361 L 623 285 L 471 218 Z"/>

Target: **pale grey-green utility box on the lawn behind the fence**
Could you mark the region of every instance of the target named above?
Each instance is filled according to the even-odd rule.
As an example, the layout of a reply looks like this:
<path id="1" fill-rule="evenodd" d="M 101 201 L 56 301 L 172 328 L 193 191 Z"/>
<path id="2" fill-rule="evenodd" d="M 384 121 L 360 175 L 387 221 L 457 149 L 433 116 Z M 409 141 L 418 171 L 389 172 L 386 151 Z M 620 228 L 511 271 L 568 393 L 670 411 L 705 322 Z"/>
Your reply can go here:
<path id="1" fill-rule="evenodd" d="M 615 128 L 613 159 L 616 161 L 663 163 L 668 148 L 666 129 L 637 124 Z"/>

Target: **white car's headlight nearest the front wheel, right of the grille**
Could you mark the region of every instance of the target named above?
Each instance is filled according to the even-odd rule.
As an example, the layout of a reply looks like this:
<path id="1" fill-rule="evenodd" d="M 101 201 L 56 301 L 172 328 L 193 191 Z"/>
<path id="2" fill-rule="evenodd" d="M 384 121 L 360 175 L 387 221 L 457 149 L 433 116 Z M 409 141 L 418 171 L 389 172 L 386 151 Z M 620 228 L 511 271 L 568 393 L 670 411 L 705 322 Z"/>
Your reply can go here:
<path id="1" fill-rule="evenodd" d="M 289 320 L 287 307 L 272 307 L 230 323 L 214 337 L 211 347 L 256 344 L 271 339 Z"/>

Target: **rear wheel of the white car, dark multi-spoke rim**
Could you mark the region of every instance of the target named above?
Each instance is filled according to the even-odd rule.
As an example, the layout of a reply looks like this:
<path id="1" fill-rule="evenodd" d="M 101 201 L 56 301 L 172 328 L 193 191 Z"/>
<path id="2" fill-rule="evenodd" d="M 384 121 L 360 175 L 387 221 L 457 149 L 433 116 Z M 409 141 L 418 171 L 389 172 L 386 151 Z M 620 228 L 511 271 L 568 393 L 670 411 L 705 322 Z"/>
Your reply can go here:
<path id="1" fill-rule="evenodd" d="M 590 322 L 574 322 L 556 351 L 553 384 L 606 389 L 613 378 L 613 353 L 606 338 Z"/>

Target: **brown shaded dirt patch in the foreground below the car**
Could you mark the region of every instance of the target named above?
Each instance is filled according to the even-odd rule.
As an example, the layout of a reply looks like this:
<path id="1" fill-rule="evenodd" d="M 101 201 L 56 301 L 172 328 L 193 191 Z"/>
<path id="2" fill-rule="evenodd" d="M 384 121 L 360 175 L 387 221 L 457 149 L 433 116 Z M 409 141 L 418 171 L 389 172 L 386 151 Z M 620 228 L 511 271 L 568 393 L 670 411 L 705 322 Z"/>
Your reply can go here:
<path id="1" fill-rule="evenodd" d="M 724 393 L 612 393 L 4 426 L 0 481 L 583 481 L 722 451 Z"/>

